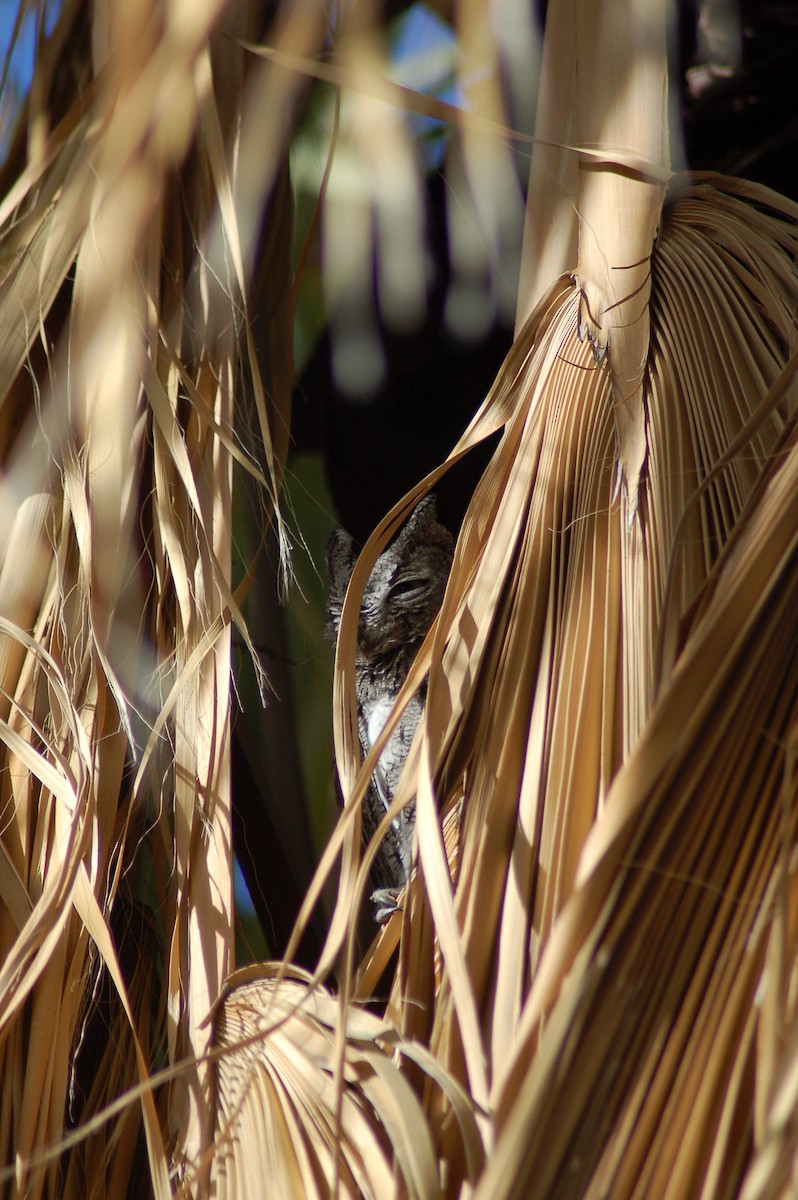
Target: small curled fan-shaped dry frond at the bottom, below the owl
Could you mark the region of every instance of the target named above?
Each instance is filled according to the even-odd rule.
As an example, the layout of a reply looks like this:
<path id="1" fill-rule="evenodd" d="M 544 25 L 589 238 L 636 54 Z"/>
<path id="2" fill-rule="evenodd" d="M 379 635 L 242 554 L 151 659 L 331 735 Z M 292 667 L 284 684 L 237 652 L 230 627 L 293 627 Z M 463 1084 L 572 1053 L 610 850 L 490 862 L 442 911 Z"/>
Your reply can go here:
<path id="1" fill-rule="evenodd" d="M 467 1098 L 419 1046 L 366 1012 L 346 1014 L 343 1091 L 336 1086 L 338 1001 L 276 968 L 240 972 L 216 1013 L 220 1196 L 440 1194 L 422 1106 L 396 1049 L 448 1090 L 472 1177 L 481 1146 Z"/>

